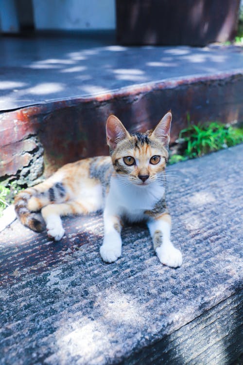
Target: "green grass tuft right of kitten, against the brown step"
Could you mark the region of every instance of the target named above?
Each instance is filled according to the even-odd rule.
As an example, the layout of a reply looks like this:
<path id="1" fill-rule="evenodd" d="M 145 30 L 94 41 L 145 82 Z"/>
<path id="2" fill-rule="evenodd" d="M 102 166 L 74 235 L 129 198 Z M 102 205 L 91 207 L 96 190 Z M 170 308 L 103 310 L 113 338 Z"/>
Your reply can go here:
<path id="1" fill-rule="evenodd" d="M 190 125 L 180 131 L 178 140 L 183 152 L 172 155 L 170 164 L 238 145 L 243 142 L 243 128 L 234 128 L 217 122 Z"/>

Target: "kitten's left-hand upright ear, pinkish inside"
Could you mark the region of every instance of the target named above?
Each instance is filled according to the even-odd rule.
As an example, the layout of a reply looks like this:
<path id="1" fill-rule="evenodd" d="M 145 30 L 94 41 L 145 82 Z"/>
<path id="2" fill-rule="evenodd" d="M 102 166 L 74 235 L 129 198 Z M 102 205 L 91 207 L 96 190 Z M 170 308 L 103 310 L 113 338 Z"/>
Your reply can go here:
<path id="1" fill-rule="evenodd" d="M 129 133 L 121 121 L 115 115 L 110 115 L 106 121 L 107 145 L 113 150 L 120 141 L 127 137 L 129 137 Z"/>

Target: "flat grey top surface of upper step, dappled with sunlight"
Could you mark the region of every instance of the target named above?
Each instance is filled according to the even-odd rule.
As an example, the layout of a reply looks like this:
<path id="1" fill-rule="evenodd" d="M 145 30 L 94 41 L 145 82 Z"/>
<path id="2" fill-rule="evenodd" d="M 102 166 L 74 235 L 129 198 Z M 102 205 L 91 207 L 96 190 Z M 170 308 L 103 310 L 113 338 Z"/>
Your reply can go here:
<path id="1" fill-rule="evenodd" d="M 0 110 L 243 71 L 243 49 L 122 47 L 114 37 L 1 37 Z"/>

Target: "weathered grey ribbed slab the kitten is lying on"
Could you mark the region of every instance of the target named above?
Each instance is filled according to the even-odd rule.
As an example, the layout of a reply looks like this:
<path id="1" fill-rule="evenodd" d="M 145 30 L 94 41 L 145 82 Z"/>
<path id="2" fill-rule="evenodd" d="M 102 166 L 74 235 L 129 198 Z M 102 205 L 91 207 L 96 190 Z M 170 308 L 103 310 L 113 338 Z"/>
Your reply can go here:
<path id="1" fill-rule="evenodd" d="M 100 214 L 52 242 L 15 222 L 0 234 L 0 364 L 225 365 L 243 352 L 243 145 L 169 168 L 172 237 L 162 266 L 144 226 L 99 256 Z"/>

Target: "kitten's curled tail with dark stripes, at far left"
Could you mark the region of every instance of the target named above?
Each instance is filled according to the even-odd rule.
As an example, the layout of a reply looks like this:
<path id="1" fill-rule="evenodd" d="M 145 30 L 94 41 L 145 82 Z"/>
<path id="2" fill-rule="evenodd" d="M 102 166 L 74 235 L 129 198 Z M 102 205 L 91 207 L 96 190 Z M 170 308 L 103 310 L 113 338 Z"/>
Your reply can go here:
<path id="1" fill-rule="evenodd" d="M 20 222 L 35 232 L 42 232 L 45 229 L 45 222 L 41 213 L 34 213 L 28 208 L 28 201 L 38 194 L 35 188 L 29 187 L 20 191 L 15 197 L 15 212 Z"/>

